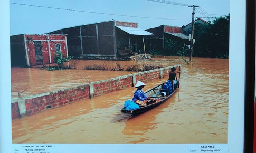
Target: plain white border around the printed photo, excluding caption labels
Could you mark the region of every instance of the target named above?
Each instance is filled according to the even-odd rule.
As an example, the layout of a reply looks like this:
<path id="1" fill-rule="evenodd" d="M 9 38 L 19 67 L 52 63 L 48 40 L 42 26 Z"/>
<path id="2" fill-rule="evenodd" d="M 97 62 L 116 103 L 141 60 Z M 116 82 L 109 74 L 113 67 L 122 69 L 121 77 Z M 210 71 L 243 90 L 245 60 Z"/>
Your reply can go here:
<path id="1" fill-rule="evenodd" d="M 10 71 L 10 4 L 1 1 L 0 5 L 0 152 L 15 152 L 12 148 L 11 127 L 11 71 Z M 245 33 L 246 29 L 246 0 L 230 1 L 230 69 L 229 69 L 229 152 L 243 152 L 244 149 L 244 100 L 245 100 Z M 243 73 L 244 72 L 244 73 Z M 56 144 L 57 145 L 57 144 Z M 94 147 L 102 147 L 98 151 L 105 152 L 131 152 L 140 148 L 142 152 L 171 152 L 179 150 L 183 152 L 186 144 L 58 144 L 60 153 L 72 150 L 72 152 L 92 152 Z M 134 148 L 132 150 L 127 149 Z M 187 146 L 186 146 L 187 147 Z M 97 150 L 93 151 L 96 152 Z M 51 152 L 57 153 L 57 152 Z"/>

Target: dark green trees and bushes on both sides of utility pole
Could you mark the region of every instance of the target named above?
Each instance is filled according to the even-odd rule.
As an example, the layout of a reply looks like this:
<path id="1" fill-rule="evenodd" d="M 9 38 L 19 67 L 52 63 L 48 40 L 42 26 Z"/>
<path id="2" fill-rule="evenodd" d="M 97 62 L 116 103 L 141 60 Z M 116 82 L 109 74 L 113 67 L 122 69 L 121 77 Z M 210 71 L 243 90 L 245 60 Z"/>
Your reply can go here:
<path id="1" fill-rule="evenodd" d="M 229 58 L 229 18 L 230 15 L 214 18 L 213 21 L 208 22 L 210 24 L 195 22 L 193 56 Z M 159 45 L 152 48 L 152 55 L 164 56 L 190 56 L 191 51 L 177 41 L 167 39 L 163 50 L 157 50 Z"/>

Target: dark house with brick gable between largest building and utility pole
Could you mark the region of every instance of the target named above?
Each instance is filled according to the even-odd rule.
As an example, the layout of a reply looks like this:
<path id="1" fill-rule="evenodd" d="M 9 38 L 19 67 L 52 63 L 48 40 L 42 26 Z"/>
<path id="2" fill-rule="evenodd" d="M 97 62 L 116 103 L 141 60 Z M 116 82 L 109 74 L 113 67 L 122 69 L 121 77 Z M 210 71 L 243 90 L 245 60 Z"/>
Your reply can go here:
<path id="1" fill-rule="evenodd" d="M 161 25 L 154 28 L 149 28 L 146 31 L 153 33 L 150 44 L 155 50 L 163 50 L 165 40 L 177 41 L 179 44 L 188 43 L 188 36 L 182 34 L 182 27 Z"/>

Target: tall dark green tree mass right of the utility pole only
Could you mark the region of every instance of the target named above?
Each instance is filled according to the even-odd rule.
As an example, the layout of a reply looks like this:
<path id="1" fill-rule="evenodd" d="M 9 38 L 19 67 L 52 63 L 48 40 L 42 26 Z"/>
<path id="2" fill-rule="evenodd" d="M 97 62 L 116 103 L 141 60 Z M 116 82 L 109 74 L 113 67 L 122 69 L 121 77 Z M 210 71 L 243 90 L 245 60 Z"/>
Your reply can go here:
<path id="1" fill-rule="evenodd" d="M 208 25 L 195 23 L 193 56 L 229 58 L 229 18 L 214 18 Z"/>

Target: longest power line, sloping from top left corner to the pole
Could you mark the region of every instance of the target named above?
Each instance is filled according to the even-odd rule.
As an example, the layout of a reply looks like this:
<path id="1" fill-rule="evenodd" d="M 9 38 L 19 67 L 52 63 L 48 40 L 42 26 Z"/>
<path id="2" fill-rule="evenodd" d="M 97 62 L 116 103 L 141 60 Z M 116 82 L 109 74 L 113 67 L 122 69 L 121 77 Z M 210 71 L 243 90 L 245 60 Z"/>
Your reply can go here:
<path id="1" fill-rule="evenodd" d="M 81 11 L 81 10 L 76 10 L 76 9 L 57 8 L 57 7 L 48 7 L 48 6 L 39 6 L 39 5 L 30 5 L 30 4 L 21 4 L 21 3 L 12 3 L 12 2 L 10 2 L 10 4 L 32 6 L 32 7 L 41 7 L 41 8 L 50 8 L 50 9 L 60 9 L 60 10 L 64 10 L 64 11 L 74 11 L 74 12 L 83 12 L 83 13 L 94 13 L 94 14 L 115 15 L 115 16 L 125 16 L 125 17 L 137 17 L 137 18 L 149 18 L 149 19 L 157 19 L 157 20 L 185 20 L 185 19 L 175 19 L 175 18 L 157 18 L 157 17 L 144 17 L 144 16 L 131 16 L 131 15 L 90 12 L 90 11 Z"/>

